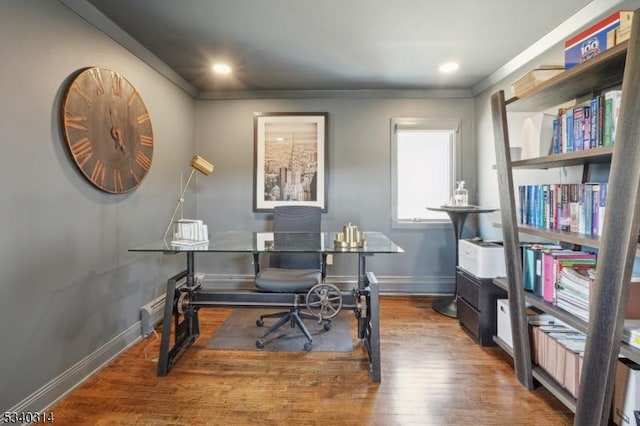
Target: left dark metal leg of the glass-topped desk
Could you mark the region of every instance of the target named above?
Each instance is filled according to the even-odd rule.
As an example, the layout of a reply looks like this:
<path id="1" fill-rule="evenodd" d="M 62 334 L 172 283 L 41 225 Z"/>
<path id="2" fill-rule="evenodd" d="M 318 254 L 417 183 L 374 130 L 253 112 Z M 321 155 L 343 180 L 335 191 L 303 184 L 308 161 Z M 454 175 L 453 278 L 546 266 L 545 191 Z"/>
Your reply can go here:
<path id="1" fill-rule="evenodd" d="M 158 357 L 158 376 L 166 376 L 176 363 L 178 355 L 183 349 L 189 347 L 200 334 L 198 324 L 198 311 L 190 306 L 182 314 L 184 318 L 180 321 L 180 314 L 176 312 L 176 302 L 182 291 L 176 291 L 177 283 L 188 275 L 187 271 L 182 271 L 167 280 L 167 294 L 164 305 L 164 318 L 162 320 L 162 337 L 160 340 L 160 356 Z M 186 291 L 189 291 L 187 289 Z M 171 339 L 171 318 L 175 318 L 174 343 L 169 348 Z"/>

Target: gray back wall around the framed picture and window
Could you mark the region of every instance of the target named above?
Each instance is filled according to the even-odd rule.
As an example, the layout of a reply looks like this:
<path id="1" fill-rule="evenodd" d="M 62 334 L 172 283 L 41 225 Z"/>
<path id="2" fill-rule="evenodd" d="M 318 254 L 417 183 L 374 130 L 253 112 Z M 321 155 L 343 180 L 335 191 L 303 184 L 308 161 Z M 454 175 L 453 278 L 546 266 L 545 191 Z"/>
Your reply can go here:
<path id="1" fill-rule="evenodd" d="M 268 230 L 270 215 L 253 213 L 253 113 L 315 111 L 329 113 L 328 212 L 323 228 L 335 231 L 351 222 L 363 230 L 382 231 L 405 249 L 379 255 L 368 266 L 387 290 L 411 291 L 427 284 L 431 291 L 451 291 L 454 259 L 451 227 L 391 229 L 392 117 L 459 117 L 465 180 L 475 182 L 473 100 L 468 99 L 281 99 L 198 101 L 198 153 L 216 164 L 198 181 L 198 217 L 210 230 Z M 472 186 L 473 191 L 474 186 Z M 423 190 L 429 190 L 424 182 Z M 475 194 L 472 193 L 472 199 Z M 196 269 L 206 274 L 251 274 L 247 255 L 201 256 Z M 353 277 L 356 259 L 335 256 L 329 276 Z M 443 287 L 442 284 L 447 286 Z M 421 289 L 421 290 L 424 290 Z"/>

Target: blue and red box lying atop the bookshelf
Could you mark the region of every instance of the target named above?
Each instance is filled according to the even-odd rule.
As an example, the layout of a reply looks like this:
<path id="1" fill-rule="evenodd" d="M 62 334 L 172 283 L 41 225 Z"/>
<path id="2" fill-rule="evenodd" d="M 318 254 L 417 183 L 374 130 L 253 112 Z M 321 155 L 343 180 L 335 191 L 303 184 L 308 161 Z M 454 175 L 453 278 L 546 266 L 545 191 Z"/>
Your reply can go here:
<path id="1" fill-rule="evenodd" d="M 564 43 L 565 69 L 598 56 L 608 47 L 615 45 L 615 29 L 622 25 L 626 31 L 626 28 L 631 25 L 632 16 L 633 11 L 618 11 L 567 40 Z M 610 40 L 609 46 L 607 39 Z"/>

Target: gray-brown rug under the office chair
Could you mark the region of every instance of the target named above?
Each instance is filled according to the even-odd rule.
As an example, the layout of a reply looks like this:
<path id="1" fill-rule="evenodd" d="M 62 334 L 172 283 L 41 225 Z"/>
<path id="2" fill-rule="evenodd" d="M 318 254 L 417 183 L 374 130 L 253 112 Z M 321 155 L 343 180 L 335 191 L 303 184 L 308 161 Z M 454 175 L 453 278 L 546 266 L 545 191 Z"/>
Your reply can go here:
<path id="1" fill-rule="evenodd" d="M 256 351 L 303 351 L 307 339 L 297 327 L 288 324 L 271 333 L 265 339 L 264 349 L 256 347 L 256 340 L 277 319 L 265 318 L 264 327 L 258 327 L 256 320 L 260 315 L 277 312 L 264 309 L 235 309 L 222 323 L 211 339 L 205 344 L 209 349 L 241 349 Z M 340 312 L 331 319 L 331 329 L 325 331 L 317 321 L 304 320 L 313 338 L 312 351 L 316 352 L 351 352 L 349 315 L 351 312 Z"/>

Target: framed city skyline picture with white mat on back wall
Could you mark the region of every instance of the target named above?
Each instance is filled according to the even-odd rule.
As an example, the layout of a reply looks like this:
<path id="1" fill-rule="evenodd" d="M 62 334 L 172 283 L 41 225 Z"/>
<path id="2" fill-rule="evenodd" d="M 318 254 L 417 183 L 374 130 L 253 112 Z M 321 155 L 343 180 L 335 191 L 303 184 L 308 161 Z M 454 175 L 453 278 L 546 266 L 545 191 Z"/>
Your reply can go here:
<path id="1" fill-rule="evenodd" d="M 326 112 L 254 113 L 253 211 L 280 205 L 327 211 Z"/>

